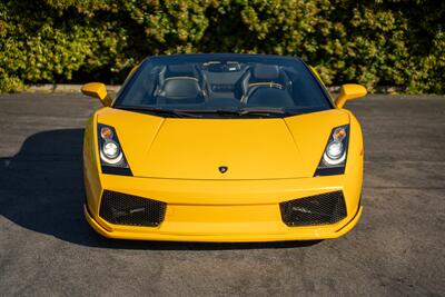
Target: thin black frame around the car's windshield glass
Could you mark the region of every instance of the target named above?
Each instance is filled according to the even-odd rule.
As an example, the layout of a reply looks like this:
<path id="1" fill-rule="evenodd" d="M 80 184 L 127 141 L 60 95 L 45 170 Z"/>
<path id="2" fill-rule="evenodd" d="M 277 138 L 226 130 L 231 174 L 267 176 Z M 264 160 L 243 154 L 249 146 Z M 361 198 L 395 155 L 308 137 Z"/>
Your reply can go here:
<path id="1" fill-rule="evenodd" d="M 314 80 L 315 85 L 318 87 L 320 93 L 323 95 L 324 99 L 326 100 L 327 106 L 324 108 L 303 108 L 301 110 L 296 110 L 293 109 L 294 112 L 291 110 L 286 110 L 286 112 L 283 112 L 283 115 L 274 115 L 274 116 L 269 116 L 267 118 L 285 118 L 285 117 L 289 117 L 289 116 L 295 116 L 295 115 L 304 115 L 304 113 L 310 113 L 310 112 L 317 112 L 317 111 L 323 111 L 323 110 L 329 110 L 335 108 L 335 105 L 333 102 L 333 99 L 330 97 L 330 95 L 328 93 L 327 89 L 324 87 L 324 85 L 319 81 L 319 79 L 314 75 L 314 72 L 310 70 L 310 68 L 298 57 L 291 57 L 291 56 L 278 56 L 278 55 L 257 55 L 257 53 L 178 53 L 178 55 L 162 55 L 162 56 L 154 56 L 154 57 L 147 57 L 146 59 L 142 60 L 142 62 L 138 66 L 138 68 L 136 69 L 136 71 L 134 71 L 132 73 L 130 73 L 130 76 L 126 79 L 126 81 L 123 82 L 122 87 L 120 88 L 120 90 L 117 93 L 116 99 L 113 100 L 112 105 L 110 106 L 111 108 L 116 108 L 116 109 L 126 109 L 125 105 L 120 105 L 123 100 L 123 98 L 126 97 L 126 95 L 128 93 L 128 91 L 131 89 L 131 87 L 134 86 L 135 81 L 137 81 L 138 77 L 140 76 L 140 73 L 142 72 L 142 70 L 145 69 L 146 65 L 151 62 L 152 60 L 162 60 L 162 59 L 170 59 L 170 58 L 208 58 L 210 60 L 212 59 L 236 59 L 236 58 L 246 58 L 246 57 L 255 57 L 255 58 L 275 58 L 275 59 L 290 59 L 290 60 L 296 60 L 299 63 L 303 65 L 303 67 L 305 68 L 305 70 L 309 73 L 309 76 L 312 77 L 312 79 Z M 171 108 L 175 109 L 175 108 Z M 128 109 L 127 109 L 128 110 Z M 166 110 L 166 109 L 165 109 Z M 180 109 L 179 109 L 180 110 Z M 199 116 L 198 113 L 205 113 L 210 116 L 210 112 L 206 112 L 205 109 L 202 109 L 202 112 L 196 112 L 197 116 L 196 118 L 264 118 L 261 116 L 248 116 L 248 117 L 241 117 L 239 113 L 236 115 L 236 112 L 233 112 L 231 116 L 229 115 L 217 115 L 216 117 L 202 117 Z M 174 116 L 167 116 L 167 113 L 161 115 L 156 115 L 156 112 L 144 112 L 144 111 L 138 111 L 136 109 L 132 110 L 134 112 L 142 112 L 142 113 L 149 113 L 149 115 L 155 115 L 158 117 L 162 117 L 162 118 L 170 118 Z M 187 109 L 184 110 L 185 112 L 187 112 Z M 228 113 L 230 111 L 235 111 L 230 108 L 227 108 Z"/>

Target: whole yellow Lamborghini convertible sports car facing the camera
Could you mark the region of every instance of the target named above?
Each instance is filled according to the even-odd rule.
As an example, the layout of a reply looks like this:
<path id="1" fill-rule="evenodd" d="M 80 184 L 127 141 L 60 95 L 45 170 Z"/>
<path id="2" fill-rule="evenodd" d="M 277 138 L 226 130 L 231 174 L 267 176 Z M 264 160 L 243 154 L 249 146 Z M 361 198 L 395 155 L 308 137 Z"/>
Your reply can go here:
<path id="1" fill-rule="evenodd" d="M 150 57 L 83 141 L 85 216 L 110 238 L 274 241 L 336 238 L 362 215 L 362 130 L 294 57 Z"/>

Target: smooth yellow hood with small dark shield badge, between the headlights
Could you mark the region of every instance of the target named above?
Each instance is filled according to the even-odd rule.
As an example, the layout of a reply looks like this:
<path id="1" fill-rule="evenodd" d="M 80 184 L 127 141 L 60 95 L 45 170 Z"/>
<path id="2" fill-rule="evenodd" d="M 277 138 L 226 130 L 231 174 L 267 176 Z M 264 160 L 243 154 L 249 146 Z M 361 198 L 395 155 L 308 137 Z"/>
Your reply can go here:
<path id="1" fill-rule="evenodd" d="M 332 129 L 349 121 L 338 109 L 287 118 L 192 119 L 103 108 L 97 117 L 115 127 L 134 176 L 237 180 L 313 177 Z"/>

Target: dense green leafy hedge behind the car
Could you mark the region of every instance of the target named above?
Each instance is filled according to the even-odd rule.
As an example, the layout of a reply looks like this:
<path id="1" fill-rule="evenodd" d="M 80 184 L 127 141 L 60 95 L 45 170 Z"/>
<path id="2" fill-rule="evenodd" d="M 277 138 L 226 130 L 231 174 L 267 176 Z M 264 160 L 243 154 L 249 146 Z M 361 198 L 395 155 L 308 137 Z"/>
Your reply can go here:
<path id="1" fill-rule="evenodd" d="M 0 0 L 0 91 L 119 83 L 146 56 L 299 56 L 327 85 L 445 92 L 445 1 Z"/>

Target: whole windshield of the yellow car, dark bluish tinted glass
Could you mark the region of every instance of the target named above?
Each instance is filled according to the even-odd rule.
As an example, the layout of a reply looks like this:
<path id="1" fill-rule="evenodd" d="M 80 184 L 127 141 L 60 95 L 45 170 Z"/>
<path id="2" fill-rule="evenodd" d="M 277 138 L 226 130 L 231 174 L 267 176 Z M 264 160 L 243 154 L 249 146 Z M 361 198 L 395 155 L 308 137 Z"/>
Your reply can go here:
<path id="1" fill-rule="evenodd" d="M 332 106 L 296 58 L 177 55 L 145 60 L 115 108 L 162 117 L 284 117 Z"/>

